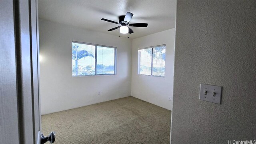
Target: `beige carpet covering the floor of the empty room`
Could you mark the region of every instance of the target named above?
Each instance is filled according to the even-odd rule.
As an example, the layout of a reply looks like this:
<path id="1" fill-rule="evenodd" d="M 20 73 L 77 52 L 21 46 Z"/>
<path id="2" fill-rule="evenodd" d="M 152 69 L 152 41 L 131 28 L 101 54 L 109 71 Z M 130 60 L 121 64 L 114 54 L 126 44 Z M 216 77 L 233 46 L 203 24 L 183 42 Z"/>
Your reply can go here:
<path id="1" fill-rule="evenodd" d="M 170 110 L 130 96 L 46 114 L 42 132 L 54 144 L 170 144 L 170 122 Z"/>

